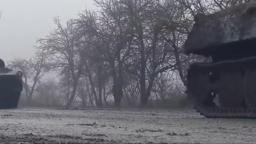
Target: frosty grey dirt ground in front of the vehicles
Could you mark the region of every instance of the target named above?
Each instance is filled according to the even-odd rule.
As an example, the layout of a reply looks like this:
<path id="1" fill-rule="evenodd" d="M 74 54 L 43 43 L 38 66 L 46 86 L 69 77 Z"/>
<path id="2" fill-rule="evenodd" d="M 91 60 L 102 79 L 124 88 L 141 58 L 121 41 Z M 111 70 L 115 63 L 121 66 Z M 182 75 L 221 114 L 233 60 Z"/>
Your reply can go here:
<path id="1" fill-rule="evenodd" d="M 0 110 L 0 143 L 255 143 L 254 119 L 194 110 Z"/>

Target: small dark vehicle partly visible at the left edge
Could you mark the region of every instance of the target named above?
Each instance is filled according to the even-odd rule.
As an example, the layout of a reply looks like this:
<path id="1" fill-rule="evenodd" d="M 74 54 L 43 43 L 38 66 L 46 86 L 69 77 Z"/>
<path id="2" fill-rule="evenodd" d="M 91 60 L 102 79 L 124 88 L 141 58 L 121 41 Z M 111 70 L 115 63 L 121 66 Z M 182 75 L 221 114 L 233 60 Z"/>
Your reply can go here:
<path id="1" fill-rule="evenodd" d="M 0 109 L 17 108 L 22 91 L 22 72 L 5 68 L 0 59 Z"/>

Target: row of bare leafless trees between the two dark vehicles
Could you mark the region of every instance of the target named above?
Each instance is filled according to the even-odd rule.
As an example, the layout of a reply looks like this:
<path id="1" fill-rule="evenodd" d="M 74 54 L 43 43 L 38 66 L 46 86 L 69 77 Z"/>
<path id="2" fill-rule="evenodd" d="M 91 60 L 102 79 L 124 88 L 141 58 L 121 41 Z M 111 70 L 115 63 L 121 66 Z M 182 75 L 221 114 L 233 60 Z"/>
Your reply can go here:
<path id="1" fill-rule="evenodd" d="M 34 93 L 47 105 L 67 108 L 145 107 L 149 99 L 185 95 L 189 63 L 203 61 L 185 55 L 182 46 L 197 13 L 209 14 L 230 0 L 94 0 L 100 11 L 85 10 L 62 25 L 59 17 L 49 35 L 36 42 L 36 56 L 14 59 L 9 67 L 23 71 L 28 102 Z M 47 73 L 60 81 L 42 81 Z M 38 97 L 39 97 L 38 96 Z M 49 101 L 51 100 L 51 102 Z M 114 103 L 109 103 L 111 100 Z"/>

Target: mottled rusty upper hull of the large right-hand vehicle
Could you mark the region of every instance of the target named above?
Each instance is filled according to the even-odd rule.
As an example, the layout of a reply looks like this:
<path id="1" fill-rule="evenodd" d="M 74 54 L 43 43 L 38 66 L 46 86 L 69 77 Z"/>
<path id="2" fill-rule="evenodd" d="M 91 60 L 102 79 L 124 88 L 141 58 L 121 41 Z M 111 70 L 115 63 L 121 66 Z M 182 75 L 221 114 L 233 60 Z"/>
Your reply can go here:
<path id="1" fill-rule="evenodd" d="M 256 37 L 256 3 L 244 3 L 213 14 L 197 14 L 185 42 L 185 53 L 215 49 Z"/>

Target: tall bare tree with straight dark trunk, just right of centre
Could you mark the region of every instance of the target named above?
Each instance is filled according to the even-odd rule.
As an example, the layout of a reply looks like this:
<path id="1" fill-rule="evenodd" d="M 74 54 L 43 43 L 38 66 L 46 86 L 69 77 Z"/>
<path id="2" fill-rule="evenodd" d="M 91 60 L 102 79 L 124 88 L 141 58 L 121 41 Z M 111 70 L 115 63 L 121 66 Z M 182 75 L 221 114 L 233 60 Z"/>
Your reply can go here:
<path id="1" fill-rule="evenodd" d="M 146 105 L 150 97 L 155 77 L 177 65 L 173 50 L 166 44 L 164 37 L 168 34 L 169 29 L 177 29 L 179 23 L 173 21 L 169 23 L 163 6 L 157 2 L 151 0 L 122 1 L 126 5 L 126 11 L 130 15 L 130 21 L 135 29 L 134 45 L 137 51 L 134 51 L 133 55 L 137 55 L 137 57 L 132 57 L 128 64 L 130 67 L 139 64 L 140 70 L 134 71 L 133 74 L 139 74 L 142 106 Z M 176 15 L 180 14 L 175 8 L 177 5 L 170 6 L 173 11 L 177 12 Z M 175 14 L 171 14 L 170 17 L 177 17 Z M 140 63 L 137 63 L 138 60 Z"/>

